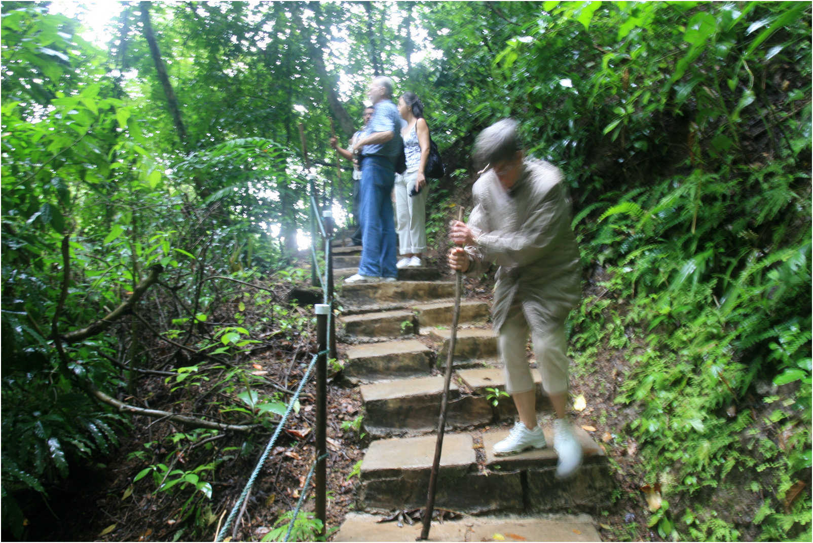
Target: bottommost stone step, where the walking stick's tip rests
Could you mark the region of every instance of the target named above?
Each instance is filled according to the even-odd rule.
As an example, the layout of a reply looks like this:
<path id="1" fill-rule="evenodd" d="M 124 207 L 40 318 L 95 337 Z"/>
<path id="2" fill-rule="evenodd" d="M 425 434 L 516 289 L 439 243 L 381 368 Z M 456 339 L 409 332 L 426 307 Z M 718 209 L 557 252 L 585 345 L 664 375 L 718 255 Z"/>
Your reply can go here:
<path id="1" fill-rule="evenodd" d="M 423 529 L 380 523 L 382 515 L 350 512 L 335 541 L 415 541 Z M 601 541 L 589 515 L 503 515 L 434 521 L 427 541 Z"/>

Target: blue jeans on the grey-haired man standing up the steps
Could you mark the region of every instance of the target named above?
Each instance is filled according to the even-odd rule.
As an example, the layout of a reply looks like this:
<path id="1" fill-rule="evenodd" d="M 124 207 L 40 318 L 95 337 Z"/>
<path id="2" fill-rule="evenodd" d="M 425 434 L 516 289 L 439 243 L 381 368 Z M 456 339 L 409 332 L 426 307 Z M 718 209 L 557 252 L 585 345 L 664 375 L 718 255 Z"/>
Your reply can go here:
<path id="1" fill-rule="evenodd" d="M 398 277 L 397 238 L 390 193 L 395 182 L 391 160 L 366 156 L 361 163 L 361 263 L 359 275 Z"/>

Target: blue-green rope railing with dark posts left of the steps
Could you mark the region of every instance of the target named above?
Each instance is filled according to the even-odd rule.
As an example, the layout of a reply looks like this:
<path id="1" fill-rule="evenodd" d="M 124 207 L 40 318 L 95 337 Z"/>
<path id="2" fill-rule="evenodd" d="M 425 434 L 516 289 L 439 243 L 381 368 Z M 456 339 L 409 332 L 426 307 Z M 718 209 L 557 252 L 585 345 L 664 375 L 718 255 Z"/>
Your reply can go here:
<path id="1" fill-rule="evenodd" d="M 224 523 L 223 528 L 220 529 L 217 536 L 215 537 L 215 541 L 223 541 L 226 533 L 228 532 L 229 528 L 232 527 L 234 519 L 237 517 L 237 511 L 241 509 L 243 504 L 248 500 L 249 493 L 251 492 L 251 488 L 254 486 L 254 480 L 257 479 L 259 475 L 260 469 L 263 467 L 268 454 L 271 452 L 273 446 L 276 444 L 276 439 L 279 437 L 282 428 L 285 426 L 285 423 L 288 420 L 288 417 L 293 411 L 293 405 L 298 401 L 300 393 L 302 393 L 302 389 L 304 388 L 305 384 L 311 378 L 311 372 L 313 368 L 316 367 L 316 431 L 315 431 L 315 445 L 316 445 L 316 458 L 311 466 L 311 470 L 308 472 L 307 480 L 305 481 L 304 488 L 302 489 L 302 494 L 300 495 L 299 502 L 296 506 L 296 509 L 293 511 L 293 517 L 289 523 L 288 533 L 285 534 L 285 541 L 288 541 L 288 537 L 293 530 L 294 523 L 296 522 L 297 515 L 299 514 L 299 510 L 302 507 L 302 502 L 304 501 L 305 497 L 308 493 L 308 488 L 310 486 L 311 476 L 315 474 L 316 481 L 315 481 L 315 513 L 316 517 L 322 521 L 322 534 L 324 535 L 326 527 L 325 523 L 327 520 L 327 512 L 326 512 L 326 464 L 325 460 L 328 457 L 327 448 L 326 448 L 326 422 L 327 422 L 327 357 L 328 354 L 331 358 L 336 358 L 336 323 L 333 320 L 333 251 L 331 250 L 331 242 L 333 241 L 333 214 L 330 211 L 324 211 L 323 216 L 319 214 L 319 206 L 316 203 L 315 199 L 315 187 L 313 185 L 313 181 L 311 180 L 311 210 L 313 211 L 312 218 L 315 218 L 315 224 L 319 225 L 320 234 L 324 238 L 324 259 L 325 259 L 325 267 L 324 267 L 324 279 L 322 276 L 322 270 L 319 268 L 319 265 L 316 260 L 316 250 L 315 250 L 315 232 L 311 232 L 311 257 L 313 258 L 313 266 L 314 271 L 319 271 L 319 281 L 321 283 L 322 291 L 324 293 L 324 303 L 323 304 L 316 304 L 315 306 L 315 314 L 316 314 L 316 336 L 318 346 L 318 352 L 313 355 L 311 358 L 311 363 L 308 364 L 308 367 L 305 371 L 305 374 L 302 376 L 302 380 L 299 381 L 297 389 L 294 391 L 293 396 L 290 398 L 288 402 L 288 406 L 285 408 L 285 414 L 282 415 L 282 419 L 280 419 L 279 424 L 277 424 L 276 429 L 270 440 L 263 450 L 263 454 L 260 455 L 259 461 L 257 465 L 254 467 L 254 471 L 251 472 L 249 476 L 249 480 L 246 481 L 246 486 L 243 488 L 243 491 L 240 494 L 240 497 L 237 498 L 237 502 L 234 504 L 231 512 L 228 515 L 228 519 Z M 313 224 L 313 223 L 311 223 Z M 314 273 L 315 275 L 315 273 Z"/>

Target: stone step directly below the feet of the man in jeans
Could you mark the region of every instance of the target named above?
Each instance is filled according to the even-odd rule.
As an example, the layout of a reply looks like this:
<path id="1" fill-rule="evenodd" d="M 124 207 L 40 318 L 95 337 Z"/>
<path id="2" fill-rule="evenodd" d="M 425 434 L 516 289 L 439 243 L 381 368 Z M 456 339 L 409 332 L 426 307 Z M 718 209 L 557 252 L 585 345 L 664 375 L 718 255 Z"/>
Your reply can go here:
<path id="1" fill-rule="evenodd" d="M 337 285 L 338 287 L 339 285 Z M 429 302 L 454 296 L 452 281 L 393 281 L 392 283 L 341 284 L 341 301 L 355 310 Z M 382 307 L 383 309 L 383 307 Z"/>

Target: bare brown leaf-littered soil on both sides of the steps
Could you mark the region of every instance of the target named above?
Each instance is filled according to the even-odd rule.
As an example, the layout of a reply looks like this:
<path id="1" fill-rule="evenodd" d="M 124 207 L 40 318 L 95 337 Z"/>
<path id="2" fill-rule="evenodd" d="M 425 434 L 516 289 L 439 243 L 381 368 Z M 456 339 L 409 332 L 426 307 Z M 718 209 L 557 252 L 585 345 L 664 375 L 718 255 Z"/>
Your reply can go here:
<path id="1" fill-rule="evenodd" d="M 441 267 L 437 255 L 430 255 L 429 263 Z M 602 280 L 606 279 L 602 273 L 597 268 L 585 277 L 585 297 L 591 294 L 607 295 L 606 289 L 601 286 Z M 491 286 L 490 279 L 467 279 L 466 295 L 468 298 L 488 299 Z M 280 292 L 280 298 L 286 295 Z M 244 297 L 246 306 L 248 299 Z M 623 305 L 623 301 L 619 301 L 615 310 L 620 311 Z M 250 322 L 251 311 L 252 308 L 247 307 L 247 323 Z M 304 310 L 302 312 L 305 313 Z M 299 336 L 266 344 L 262 351 L 252 354 L 250 361 L 244 362 L 254 364 L 255 368 L 262 367 L 272 380 L 293 389 L 313 352 L 315 347 Z M 627 369 L 624 352 L 606 345 L 598 349 L 590 367 L 573 368 L 572 397 L 583 394 L 586 406 L 582 411 L 572 411 L 572 419 L 574 423 L 588 427 L 585 429 L 602 444 L 615 474 L 611 506 L 585 512 L 593 515 L 605 541 L 662 541 L 657 532 L 646 526 L 649 514 L 641 492 L 645 474 L 641 473 L 641 463 L 637 459 L 637 443 L 624 437 L 624 428 L 637 418 L 636 408 L 613 402 Z M 259 541 L 281 515 L 296 505 L 314 457 L 314 432 L 311 432 L 311 428 L 314 427 L 315 404 L 312 381 L 301 397 L 301 410 L 297 415 L 292 414 L 286 427 L 289 430 L 280 434 L 254 483 L 234 541 Z M 152 408 L 192 411 L 195 396 L 204 393 L 206 386 L 202 384 L 200 389 L 187 388 L 185 394 L 170 393 L 170 387 L 164 383 L 163 377 L 148 376 L 141 380 L 139 393 L 143 398 L 150 398 L 149 406 Z M 274 389 L 267 387 L 261 389 L 261 394 L 263 392 L 270 395 Z M 359 432 L 349 427 L 350 421 L 361 413 L 360 410 L 358 389 L 343 382 L 341 374 L 334 375 L 328 393 L 328 529 L 337 528 L 346 513 L 354 510 L 359 479 L 357 475 L 350 474 L 354 465 L 363 458 L 363 451 L 369 444 L 367 437 L 359 437 Z M 760 419 L 759 416 L 754 417 L 754 420 Z M 341 426 L 343 423 L 346 424 L 345 428 Z M 96 468 L 74 469 L 72 476 L 59 489 L 51 490 L 48 506 L 41 506 L 37 517 L 28 519 L 28 541 L 214 540 L 220 522 L 228 516 L 272 433 L 268 430 L 254 432 L 250 436 L 228 433 L 203 447 L 191 443 L 183 446 L 184 441 L 180 441 L 179 446 L 173 446 L 169 440 L 181 430 L 180 427 L 143 417 L 134 419 L 134 424 L 133 431 L 122 437 L 120 449 L 110 458 L 100 459 Z M 152 446 L 146 449 L 145 443 Z M 198 515 L 199 525 L 194 532 L 192 527 L 187 526 L 184 532 L 178 533 L 183 528 L 179 523 L 180 508 L 193 493 L 185 490 L 175 497 L 153 493 L 155 486 L 150 476 L 133 484 L 133 478 L 149 463 L 169 463 L 172 451 L 180 451 L 175 454 L 175 467 L 192 469 L 211 462 L 218 455 L 222 456 L 228 447 L 235 448 L 230 453 L 233 458 L 221 463 L 215 476 L 202 476 L 202 479 L 212 483 L 211 512 L 205 506 L 201 508 L 205 512 Z M 145 459 L 133 456 L 134 452 L 144 450 L 151 453 Z M 735 521 L 741 521 L 737 522 L 737 528 L 741 530 L 742 539 L 753 540 L 759 532 L 755 527 L 749 530 L 747 511 L 750 510 L 753 515 L 759 503 L 743 502 L 756 498 L 750 498 L 751 493 L 741 494 L 728 497 L 728 510 Z M 200 493 L 193 499 L 198 498 L 202 500 Z M 312 499 L 306 502 L 305 510 L 313 510 Z M 737 510 L 744 511 L 745 518 L 737 519 Z M 189 519 L 183 522 L 189 524 Z"/>

